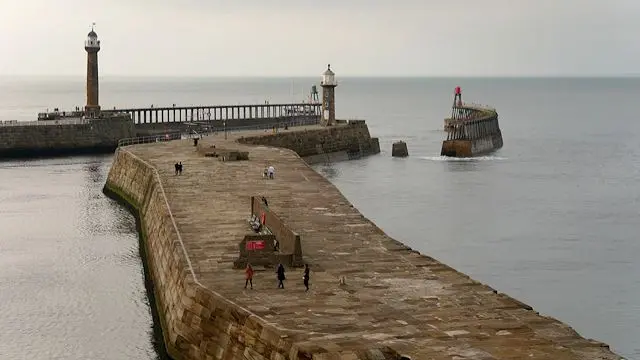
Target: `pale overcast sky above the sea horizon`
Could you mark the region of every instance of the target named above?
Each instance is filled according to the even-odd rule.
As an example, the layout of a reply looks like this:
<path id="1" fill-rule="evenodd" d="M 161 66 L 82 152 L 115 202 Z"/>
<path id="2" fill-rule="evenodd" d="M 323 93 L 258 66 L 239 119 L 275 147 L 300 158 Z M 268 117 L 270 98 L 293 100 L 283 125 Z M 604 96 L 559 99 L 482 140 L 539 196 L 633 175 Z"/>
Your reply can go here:
<path id="1" fill-rule="evenodd" d="M 0 0 L 0 75 L 640 75 L 639 0 Z"/>

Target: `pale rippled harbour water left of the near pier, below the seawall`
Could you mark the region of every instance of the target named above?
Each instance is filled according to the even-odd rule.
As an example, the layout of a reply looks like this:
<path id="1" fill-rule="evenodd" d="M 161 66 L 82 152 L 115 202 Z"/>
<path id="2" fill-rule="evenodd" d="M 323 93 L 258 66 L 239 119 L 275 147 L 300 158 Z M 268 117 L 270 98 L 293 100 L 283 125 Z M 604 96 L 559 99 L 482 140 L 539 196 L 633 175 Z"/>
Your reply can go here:
<path id="1" fill-rule="evenodd" d="M 0 358 L 156 359 L 135 220 L 111 156 L 0 163 Z"/>

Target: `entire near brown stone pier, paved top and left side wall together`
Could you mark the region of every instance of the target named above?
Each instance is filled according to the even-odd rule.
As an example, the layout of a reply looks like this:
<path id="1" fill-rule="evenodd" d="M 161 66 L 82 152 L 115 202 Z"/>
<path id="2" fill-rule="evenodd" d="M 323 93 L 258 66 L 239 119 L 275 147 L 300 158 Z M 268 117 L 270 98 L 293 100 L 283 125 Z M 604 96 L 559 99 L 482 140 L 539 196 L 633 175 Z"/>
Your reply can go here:
<path id="1" fill-rule="evenodd" d="M 105 192 L 133 206 L 140 220 L 171 356 L 620 358 L 388 237 L 290 150 L 300 143 L 307 145 L 297 151 L 310 148 L 311 139 L 325 139 L 323 146 L 343 134 L 358 139 L 352 136 L 364 134 L 358 126 L 365 125 L 118 149 Z M 329 137 L 329 131 L 335 133 Z M 248 160 L 231 161 L 245 158 L 232 154 Z M 174 172 L 178 161 L 181 175 Z M 276 169 L 273 179 L 262 175 L 268 165 Z M 263 196 L 268 205 L 257 201 Z M 264 218 L 267 233 L 252 230 L 252 213 Z M 280 242 L 277 252 L 268 242 L 273 237 Z M 244 289 L 239 269 L 247 261 L 261 264 L 254 266 L 252 290 Z M 276 287 L 275 261 L 288 262 L 285 289 Z M 311 267 L 309 292 L 302 263 Z"/>

